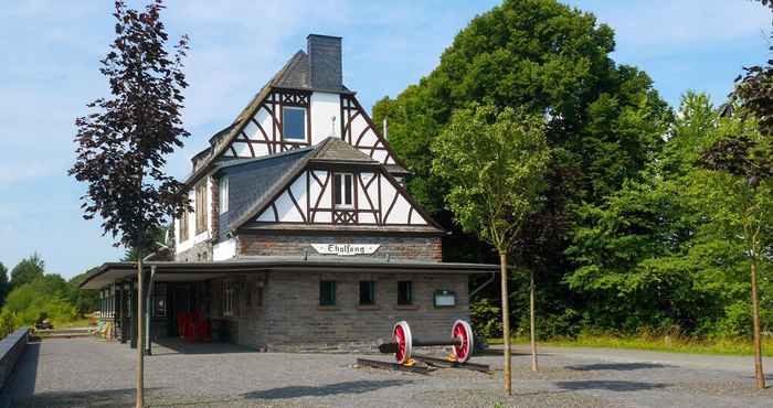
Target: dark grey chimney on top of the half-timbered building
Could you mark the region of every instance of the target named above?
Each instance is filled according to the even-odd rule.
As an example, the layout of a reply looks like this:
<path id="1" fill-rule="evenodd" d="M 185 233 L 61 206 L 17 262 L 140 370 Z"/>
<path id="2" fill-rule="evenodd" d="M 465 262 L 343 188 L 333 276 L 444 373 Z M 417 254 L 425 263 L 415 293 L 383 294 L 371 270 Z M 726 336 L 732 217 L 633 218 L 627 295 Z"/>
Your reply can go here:
<path id="1" fill-rule="evenodd" d="M 309 34 L 306 41 L 311 87 L 340 90 L 343 87 L 341 37 Z"/>

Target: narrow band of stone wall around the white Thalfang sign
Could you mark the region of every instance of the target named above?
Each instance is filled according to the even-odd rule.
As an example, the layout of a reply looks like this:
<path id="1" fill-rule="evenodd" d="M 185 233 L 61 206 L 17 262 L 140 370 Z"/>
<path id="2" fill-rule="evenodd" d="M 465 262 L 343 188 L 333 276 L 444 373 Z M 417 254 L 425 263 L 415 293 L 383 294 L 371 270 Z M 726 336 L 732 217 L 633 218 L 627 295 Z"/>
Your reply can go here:
<path id="1" fill-rule="evenodd" d="M 360 235 L 303 235 L 284 234 L 240 234 L 239 255 L 253 256 L 303 256 L 317 255 L 311 244 L 379 244 L 379 249 L 370 257 L 391 259 L 425 260 L 440 262 L 443 249 L 440 237 L 432 236 L 360 236 Z"/>

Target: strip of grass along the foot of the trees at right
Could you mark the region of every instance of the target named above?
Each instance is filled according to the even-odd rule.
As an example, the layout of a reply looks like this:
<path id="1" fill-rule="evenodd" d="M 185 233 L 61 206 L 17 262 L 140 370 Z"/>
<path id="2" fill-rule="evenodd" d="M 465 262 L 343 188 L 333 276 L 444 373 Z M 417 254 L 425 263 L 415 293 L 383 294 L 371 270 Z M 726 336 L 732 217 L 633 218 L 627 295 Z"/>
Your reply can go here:
<path id="1" fill-rule="evenodd" d="M 488 344 L 502 344 L 501 339 L 488 339 Z M 513 337 L 512 344 L 529 344 L 528 337 Z M 576 339 L 552 339 L 538 345 L 554 347 L 634 348 L 668 353 L 753 355 L 752 342 L 741 339 L 699 340 L 682 337 L 620 337 L 613 335 L 580 335 Z M 762 355 L 773 357 L 773 339 L 762 340 Z"/>

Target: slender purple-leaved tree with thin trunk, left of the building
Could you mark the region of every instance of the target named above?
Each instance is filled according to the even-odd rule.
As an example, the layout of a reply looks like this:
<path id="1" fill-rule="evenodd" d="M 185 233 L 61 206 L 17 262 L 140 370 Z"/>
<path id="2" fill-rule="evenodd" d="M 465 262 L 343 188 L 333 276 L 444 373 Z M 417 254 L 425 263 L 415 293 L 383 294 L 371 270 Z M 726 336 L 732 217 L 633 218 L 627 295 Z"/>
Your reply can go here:
<path id="1" fill-rule="evenodd" d="M 110 96 L 88 104 L 77 118 L 76 161 L 70 174 L 87 184 L 84 217 L 99 217 L 116 245 L 137 254 L 138 298 L 142 299 L 142 257 L 151 247 L 150 232 L 188 203 L 184 185 L 165 173 L 166 155 L 182 147 L 183 36 L 173 53 L 161 21 L 161 0 L 144 11 L 116 1 L 115 40 L 102 60 Z M 142 406 L 142 304 L 137 302 L 137 406 Z"/>

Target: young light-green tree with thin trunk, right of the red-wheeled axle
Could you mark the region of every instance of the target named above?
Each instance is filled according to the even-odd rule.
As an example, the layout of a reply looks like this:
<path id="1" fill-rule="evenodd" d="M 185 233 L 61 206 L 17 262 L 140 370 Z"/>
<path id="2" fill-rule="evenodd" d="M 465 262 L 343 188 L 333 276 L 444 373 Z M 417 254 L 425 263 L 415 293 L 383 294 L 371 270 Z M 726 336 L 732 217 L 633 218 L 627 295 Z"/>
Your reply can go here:
<path id="1" fill-rule="evenodd" d="M 550 149 L 539 117 L 500 112 L 493 106 L 460 109 L 433 144 L 432 171 L 453 185 L 445 200 L 464 230 L 476 234 L 497 249 L 501 273 L 505 390 L 511 394 L 508 254 L 518 244 L 526 219 L 541 206 Z M 534 292 L 531 277 L 532 369 Z"/>

